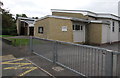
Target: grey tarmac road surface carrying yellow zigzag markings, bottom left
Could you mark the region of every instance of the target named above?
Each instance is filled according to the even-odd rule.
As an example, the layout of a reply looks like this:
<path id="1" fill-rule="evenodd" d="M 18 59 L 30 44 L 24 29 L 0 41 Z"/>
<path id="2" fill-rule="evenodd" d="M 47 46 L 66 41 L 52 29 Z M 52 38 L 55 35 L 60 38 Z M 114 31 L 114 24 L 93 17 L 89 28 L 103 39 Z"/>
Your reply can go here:
<path id="1" fill-rule="evenodd" d="M 1 64 L 2 76 L 49 76 L 23 58 L 3 61 Z"/>

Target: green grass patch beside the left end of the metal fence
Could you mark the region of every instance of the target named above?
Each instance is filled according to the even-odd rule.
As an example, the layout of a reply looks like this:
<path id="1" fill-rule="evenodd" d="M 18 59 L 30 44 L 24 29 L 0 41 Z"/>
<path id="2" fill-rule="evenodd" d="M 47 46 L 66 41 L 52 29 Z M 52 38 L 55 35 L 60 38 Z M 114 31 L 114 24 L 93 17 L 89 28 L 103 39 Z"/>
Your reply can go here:
<path id="1" fill-rule="evenodd" d="M 12 45 L 14 46 L 24 46 L 29 44 L 29 39 L 9 38 L 8 40 L 12 41 Z"/>

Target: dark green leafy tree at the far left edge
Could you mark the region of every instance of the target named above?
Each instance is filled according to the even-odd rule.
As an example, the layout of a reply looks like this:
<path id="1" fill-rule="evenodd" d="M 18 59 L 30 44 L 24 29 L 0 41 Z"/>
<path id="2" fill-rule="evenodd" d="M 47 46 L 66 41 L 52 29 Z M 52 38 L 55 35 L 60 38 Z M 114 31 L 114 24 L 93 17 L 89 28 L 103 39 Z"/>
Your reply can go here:
<path id="1" fill-rule="evenodd" d="M 17 35 L 15 18 L 13 18 L 12 14 L 5 9 L 2 9 L 2 34 Z"/>

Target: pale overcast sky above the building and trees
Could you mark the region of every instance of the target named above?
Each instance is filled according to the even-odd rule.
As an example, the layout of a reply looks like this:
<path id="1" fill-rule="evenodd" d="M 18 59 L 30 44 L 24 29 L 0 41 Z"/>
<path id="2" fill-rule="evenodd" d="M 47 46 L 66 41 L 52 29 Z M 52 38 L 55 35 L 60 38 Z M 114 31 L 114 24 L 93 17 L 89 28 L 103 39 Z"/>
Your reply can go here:
<path id="1" fill-rule="evenodd" d="M 118 15 L 120 0 L 1 0 L 3 8 L 12 14 L 26 14 L 28 17 L 51 15 L 51 9 L 89 10 L 97 13 Z"/>

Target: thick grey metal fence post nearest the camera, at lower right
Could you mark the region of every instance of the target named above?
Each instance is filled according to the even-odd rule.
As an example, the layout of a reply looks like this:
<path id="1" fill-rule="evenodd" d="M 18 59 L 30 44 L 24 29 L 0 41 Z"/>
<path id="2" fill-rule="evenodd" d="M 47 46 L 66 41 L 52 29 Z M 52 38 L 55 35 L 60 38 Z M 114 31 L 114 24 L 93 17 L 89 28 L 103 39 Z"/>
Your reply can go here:
<path id="1" fill-rule="evenodd" d="M 105 76 L 113 76 L 113 53 L 107 50 L 105 56 Z"/>

